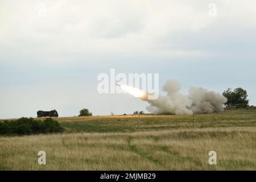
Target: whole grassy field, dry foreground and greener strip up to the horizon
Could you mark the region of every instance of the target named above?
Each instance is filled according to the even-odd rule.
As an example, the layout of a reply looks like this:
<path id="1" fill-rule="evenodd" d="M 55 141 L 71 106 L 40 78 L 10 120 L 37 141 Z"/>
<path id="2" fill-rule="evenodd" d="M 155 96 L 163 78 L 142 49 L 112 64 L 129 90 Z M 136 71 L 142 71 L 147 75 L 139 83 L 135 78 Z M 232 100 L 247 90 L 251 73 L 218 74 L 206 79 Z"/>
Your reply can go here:
<path id="1" fill-rule="evenodd" d="M 57 120 L 65 133 L 0 137 L 0 169 L 256 170 L 256 110 Z M 208 163 L 212 150 L 217 165 Z"/>

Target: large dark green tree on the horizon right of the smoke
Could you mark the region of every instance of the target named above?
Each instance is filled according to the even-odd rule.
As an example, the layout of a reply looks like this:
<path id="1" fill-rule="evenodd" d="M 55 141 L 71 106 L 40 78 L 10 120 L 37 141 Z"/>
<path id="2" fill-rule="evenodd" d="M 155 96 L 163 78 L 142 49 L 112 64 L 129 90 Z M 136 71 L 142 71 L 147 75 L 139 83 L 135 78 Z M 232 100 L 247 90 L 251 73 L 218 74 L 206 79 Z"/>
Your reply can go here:
<path id="1" fill-rule="evenodd" d="M 228 88 L 228 90 L 224 90 L 222 95 L 228 98 L 228 102 L 225 104 L 227 107 L 244 108 L 249 106 L 249 100 L 247 100 L 247 92 L 245 89 L 236 88 L 232 91 L 231 88 Z"/>

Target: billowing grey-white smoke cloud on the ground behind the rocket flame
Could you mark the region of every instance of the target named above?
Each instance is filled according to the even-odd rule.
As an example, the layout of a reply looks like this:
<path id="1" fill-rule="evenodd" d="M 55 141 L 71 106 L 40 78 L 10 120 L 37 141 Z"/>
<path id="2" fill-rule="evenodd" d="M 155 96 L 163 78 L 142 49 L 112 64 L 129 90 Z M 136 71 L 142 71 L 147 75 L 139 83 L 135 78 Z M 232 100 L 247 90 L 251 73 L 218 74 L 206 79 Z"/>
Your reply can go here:
<path id="1" fill-rule="evenodd" d="M 163 86 L 166 96 L 147 101 L 147 110 L 154 114 L 192 115 L 193 113 L 217 113 L 224 111 L 223 104 L 228 100 L 220 93 L 204 88 L 191 87 L 188 95 L 179 93 L 181 85 L 175 80 L 168 80 Z"/>

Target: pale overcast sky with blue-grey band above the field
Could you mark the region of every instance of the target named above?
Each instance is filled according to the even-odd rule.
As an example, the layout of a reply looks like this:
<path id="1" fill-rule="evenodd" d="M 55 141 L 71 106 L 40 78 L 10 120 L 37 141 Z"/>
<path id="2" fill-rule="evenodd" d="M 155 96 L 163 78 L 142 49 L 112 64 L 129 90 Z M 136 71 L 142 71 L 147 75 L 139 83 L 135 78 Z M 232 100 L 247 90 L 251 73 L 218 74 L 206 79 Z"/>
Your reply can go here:
<path id="1" fill-rule="evenodd" d="M 209 13 L 216 5 L 216 16 Z M 45 11 L 44 11 L 44 6 Z M 99 94 L 97 76 L 159 73 L 256 105 L 256 1 L 0 1 L 0 118 L 146 111 L 128 94 Z M 212 11 L 210 11 L 212 12 Z M 45 14 L 44 14 L 45 13 Z"/>

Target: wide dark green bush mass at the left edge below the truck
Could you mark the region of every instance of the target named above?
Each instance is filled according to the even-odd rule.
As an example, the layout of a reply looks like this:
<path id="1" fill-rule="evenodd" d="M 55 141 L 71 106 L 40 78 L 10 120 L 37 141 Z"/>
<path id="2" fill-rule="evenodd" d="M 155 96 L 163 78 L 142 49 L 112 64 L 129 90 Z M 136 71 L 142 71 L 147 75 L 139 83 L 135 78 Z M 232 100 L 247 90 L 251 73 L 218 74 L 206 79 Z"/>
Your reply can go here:
<path id="1" fill-rule="evenodd" d="M 64 128 L 60 123 L 47 118 L 44 121 L 33 118 L 20 118 L 16 121 L 0 122 L 0 134 L 30 135 L 39 133 L 60 133 Z"/>

